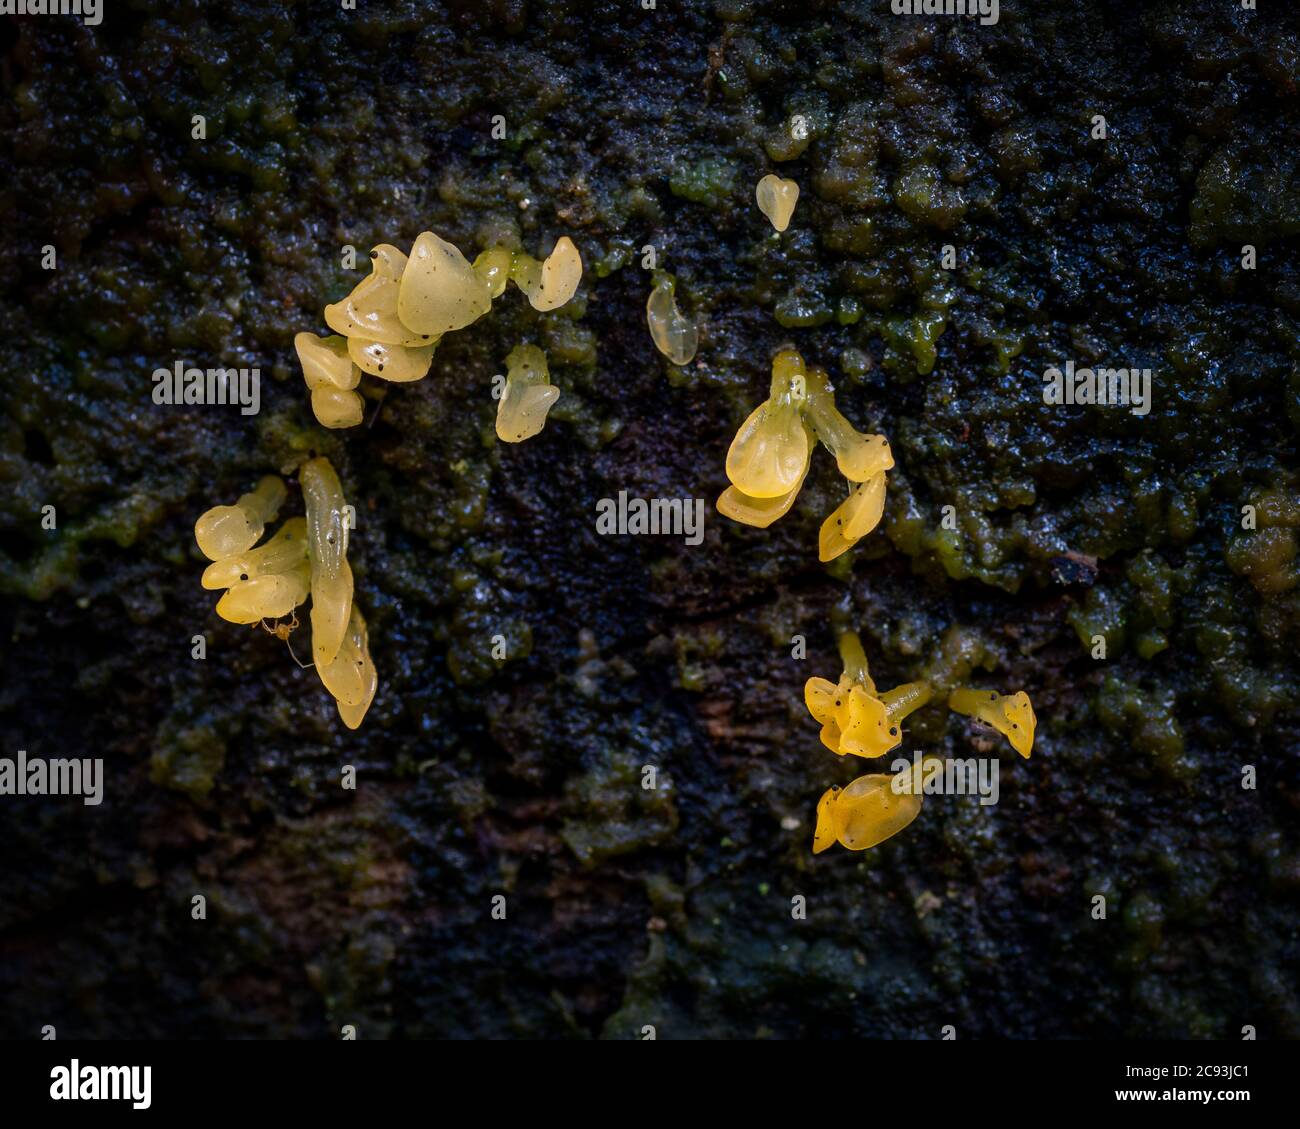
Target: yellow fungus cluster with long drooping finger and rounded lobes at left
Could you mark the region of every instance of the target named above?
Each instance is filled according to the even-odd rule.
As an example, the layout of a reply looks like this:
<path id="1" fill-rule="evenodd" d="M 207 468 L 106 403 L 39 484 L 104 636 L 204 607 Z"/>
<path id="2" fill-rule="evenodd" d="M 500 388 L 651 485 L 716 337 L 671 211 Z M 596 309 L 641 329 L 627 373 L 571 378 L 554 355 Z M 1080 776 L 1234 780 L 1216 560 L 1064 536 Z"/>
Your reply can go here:
<path id="1" fill-rule="evenodd" d="M 254 548 L 276 520 L 286 498 L 285 483 L 272 475 L 233 506 L 214 506 L 194 525 L 202 553 L 213 563 L 203 587 L 226 589 L 217 614 L 230 623 L 261 623 L 291 615 L 289 624 L 266 628 L 287 639 L 296 628 L 295 609 L 311 596 L 312 658 L 343 723 L 355 730 L 365 717 L 378 675 L 370 661 L 365 619 L 352 598 L 347 563 L 348 507 L 328 459 L 303 463 L 298 472 L 306 516 L 290 518 L 266 544 Z"/>

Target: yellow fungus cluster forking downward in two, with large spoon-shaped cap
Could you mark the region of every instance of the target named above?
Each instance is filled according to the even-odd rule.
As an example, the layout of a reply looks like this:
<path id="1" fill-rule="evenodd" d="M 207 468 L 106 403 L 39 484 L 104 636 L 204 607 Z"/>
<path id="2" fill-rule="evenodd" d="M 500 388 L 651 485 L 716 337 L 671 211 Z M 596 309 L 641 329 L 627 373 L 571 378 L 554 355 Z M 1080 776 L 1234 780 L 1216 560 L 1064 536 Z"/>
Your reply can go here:
<path id="1" fill-rule="evenodd" d="M 772 359 L 767 399 L 741 424 L 727 451 L 731 485 L 718 499 L 724 516 L 766 529 L 789 512 L 818 441 L 835 455 L 849 497 L 822 523 L 818 551 L 833 561 L 880 523 L 893 453 L 884 436 L 854 429 L 835 406 L 826 371 L 793 349 Z"/>

